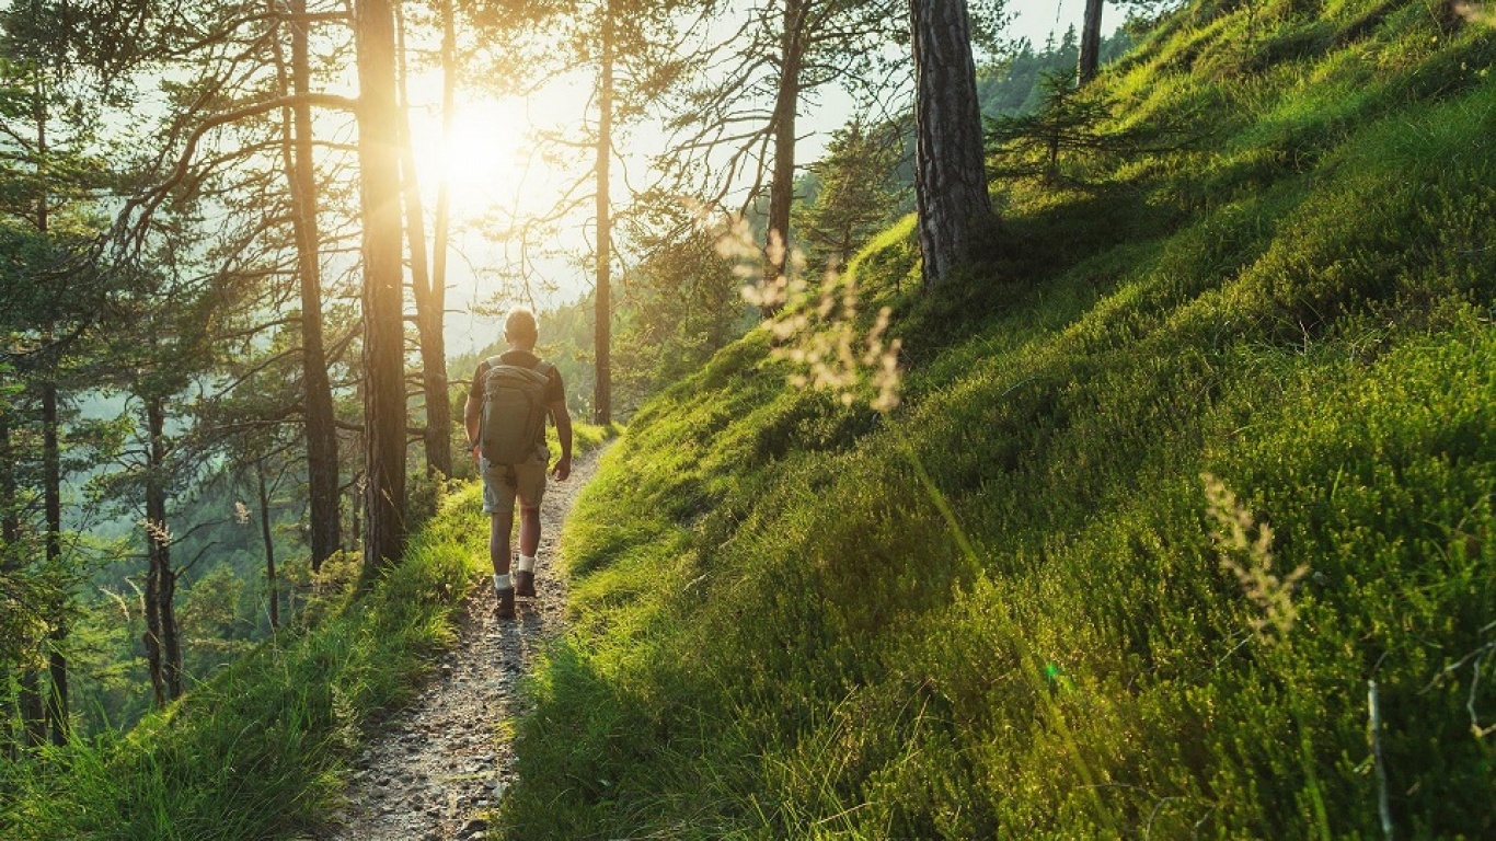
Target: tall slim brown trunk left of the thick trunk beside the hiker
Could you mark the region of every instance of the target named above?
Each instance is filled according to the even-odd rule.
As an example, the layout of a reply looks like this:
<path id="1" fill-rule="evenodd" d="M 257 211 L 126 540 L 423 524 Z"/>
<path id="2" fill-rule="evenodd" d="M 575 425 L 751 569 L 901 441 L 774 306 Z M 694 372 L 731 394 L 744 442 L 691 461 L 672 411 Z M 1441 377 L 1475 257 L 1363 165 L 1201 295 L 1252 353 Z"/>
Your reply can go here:
<path id="1" fill-rule="evenodd" d="M 287 144 L 292 160 L 286 178 L 292 198 L 292 229 L 296 236 L 296 266 L 301 275 L 301 370 L 305 394 L 307 497 L 311 525 L 311 569 L 338 551 L 338 429 L 332 410 L 332 383 L 322 340 L 322 232 L 317 226 L 317 171 L 313 162 L 311 49 L 305 19 L 307 0 L 290 0 L 293 132 Z"/>

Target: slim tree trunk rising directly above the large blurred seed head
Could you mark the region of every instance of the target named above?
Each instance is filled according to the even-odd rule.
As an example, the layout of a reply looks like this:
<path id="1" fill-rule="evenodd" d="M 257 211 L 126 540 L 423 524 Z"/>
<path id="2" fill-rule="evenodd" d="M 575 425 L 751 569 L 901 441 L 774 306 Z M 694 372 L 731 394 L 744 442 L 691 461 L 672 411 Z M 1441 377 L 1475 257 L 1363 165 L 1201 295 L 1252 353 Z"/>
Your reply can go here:
<path id="1" fill-rule="evenodd" d="M 790 208 L 794 205 L 794 124 L 800 103 L 800 63 L 805 54 L 806 0 L 784 0 L 779 33 L 779 90 L 773 103 L 773 180 L 769 184 L 769 250 L 766 280 L 784 275 L 790 259 Z M 778 311 L 770 304 L 766 317 Z"/>

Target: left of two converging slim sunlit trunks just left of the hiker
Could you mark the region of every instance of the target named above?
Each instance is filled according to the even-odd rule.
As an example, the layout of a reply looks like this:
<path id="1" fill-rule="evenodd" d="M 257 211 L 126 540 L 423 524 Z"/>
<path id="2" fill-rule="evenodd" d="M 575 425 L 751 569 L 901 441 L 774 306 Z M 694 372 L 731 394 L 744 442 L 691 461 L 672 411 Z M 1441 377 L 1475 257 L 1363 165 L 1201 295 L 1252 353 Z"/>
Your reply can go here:
<path id="1" fill-rule="evenodd" d="M 395 3 L 396 16 L 399 1 Z M 405 24 L 399 18 L 399 157 L 405 195 L 405 236 L 410 241 L 410 289 L 416 299 L 416 334 L 420 338 L 420 386 L 426 398 L 426 476 L 452 476 L 452 400 L 447 397 L 446 340 L 441 335 L 444 305 L 428 272 L 426 221 L 416 172 L 416 148 L 410 138 L 410 97 L 405 91 Z"/>

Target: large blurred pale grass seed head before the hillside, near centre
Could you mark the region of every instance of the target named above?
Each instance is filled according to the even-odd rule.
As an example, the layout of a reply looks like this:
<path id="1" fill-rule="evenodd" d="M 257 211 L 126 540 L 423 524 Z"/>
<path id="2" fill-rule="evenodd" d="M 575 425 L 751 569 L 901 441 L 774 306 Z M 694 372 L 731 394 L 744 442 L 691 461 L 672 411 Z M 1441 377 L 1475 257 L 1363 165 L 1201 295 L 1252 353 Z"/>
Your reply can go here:
<path id="1" fill-rule="evenodd" d="M 887 415 L 899 406 L 899 350 L 902 340 L 887 340 L 890 310 L 884 307 L 872 328 L 857 326 L 857 280 L 829 265 L 821 275 L 818 298 L 811 301 L 805 280 L 805 253 L 790 248 L 770 232 L 769 248 L 752 239 L 747 220 L 735 218 L 717 239 L 717 251 L 733 262 L 733 274 L 744 278 L 742 296 L 761 310 L 781 310 L 764 323 L 773 334 L 770 358 L 796 367 L 790 374 L 794 388 L 835 394 L 844 406 L 857 401 L 863 385 L 874 392 L 868 406 Z M 785 259 L 787 257 L 787 259 Z M 764 260 L 782 265 L 773 280 L 763 278 Z"/>

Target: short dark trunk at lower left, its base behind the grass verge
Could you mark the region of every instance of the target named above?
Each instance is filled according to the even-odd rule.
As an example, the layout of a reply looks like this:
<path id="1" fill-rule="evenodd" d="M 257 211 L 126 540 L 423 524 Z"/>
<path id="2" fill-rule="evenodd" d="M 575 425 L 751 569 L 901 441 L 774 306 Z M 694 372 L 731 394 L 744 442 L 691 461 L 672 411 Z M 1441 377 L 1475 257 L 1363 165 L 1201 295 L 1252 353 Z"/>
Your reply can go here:
<path id="1" fill-rule="evenodd" d="M 172 569 L 171 533 L 166 522 L 166 412 L 162 398 L 145 400 L 145 660 L 151 672 L 156 706 L 183 694 L 183 655 L 177 636 L 177 570 Z"/>

